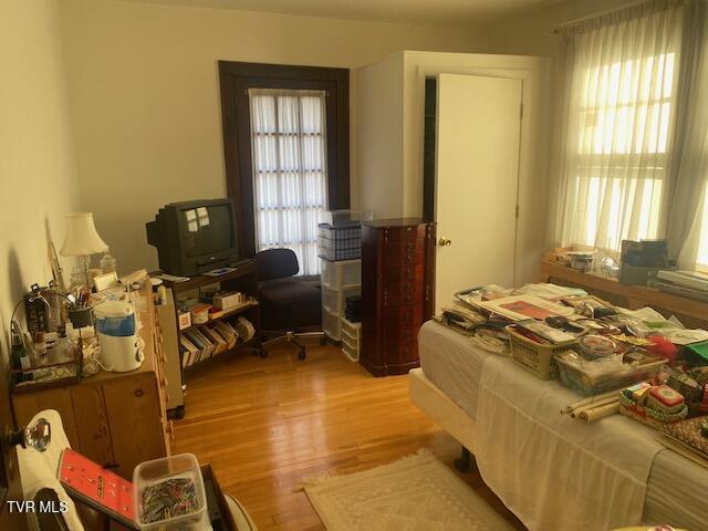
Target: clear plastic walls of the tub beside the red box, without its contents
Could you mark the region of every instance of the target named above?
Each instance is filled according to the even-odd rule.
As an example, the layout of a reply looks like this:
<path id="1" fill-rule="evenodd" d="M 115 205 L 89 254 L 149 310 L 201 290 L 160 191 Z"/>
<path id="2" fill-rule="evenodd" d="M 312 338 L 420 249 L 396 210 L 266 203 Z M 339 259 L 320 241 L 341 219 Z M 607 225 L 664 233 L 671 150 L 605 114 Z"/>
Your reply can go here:
<path id="1" fill-rule="evenodd" d="M 156 522 L 145 523 L 143 492 L 146 488 L 162 483 L 169 479 L 190 479 L 196 487 L 196 510 L 180 517 L 168 518 Z M 135 521 L 140 530 L 148 531 L 201 531 L 206 512 L 207 498 L 204 479 L 199 469 L 199 461 L 192 454 L 140 462 L 133 471 L 133 494 L 135 499 Z M 208 520 L 206 520 L 208 522 Z"/>

